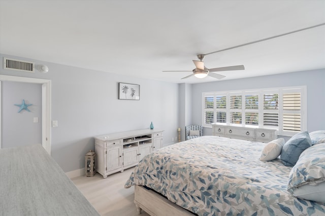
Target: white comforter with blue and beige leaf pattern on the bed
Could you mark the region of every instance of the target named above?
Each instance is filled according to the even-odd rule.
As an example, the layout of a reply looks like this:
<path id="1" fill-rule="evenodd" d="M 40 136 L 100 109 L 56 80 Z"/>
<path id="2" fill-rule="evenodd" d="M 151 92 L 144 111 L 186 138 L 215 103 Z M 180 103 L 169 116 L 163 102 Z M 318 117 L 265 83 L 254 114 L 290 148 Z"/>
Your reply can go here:
<path id="1" fill-rule="evenodd" d="M 259 160 L 266 144 L 204 136 L 146 155 L 125 183 L 147 186 L 198 215 L 325 215 L 287 192 L 291 167 Z"/>

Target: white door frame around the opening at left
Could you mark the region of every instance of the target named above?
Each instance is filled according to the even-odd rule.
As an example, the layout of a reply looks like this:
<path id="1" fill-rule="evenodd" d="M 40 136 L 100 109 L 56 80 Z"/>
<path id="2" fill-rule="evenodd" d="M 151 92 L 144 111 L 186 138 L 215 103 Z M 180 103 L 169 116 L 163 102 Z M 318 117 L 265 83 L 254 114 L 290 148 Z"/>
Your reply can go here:
<path id="1" fill-rule="evenodd" d="M 0 75 L 0 121 L 2 122 L 2 81 L 42 84 L 42 146 L 51 155 L 51 80 L 22 76 Z M 0 124 L 0 149 L 2 148 L 2 123 Z"/>

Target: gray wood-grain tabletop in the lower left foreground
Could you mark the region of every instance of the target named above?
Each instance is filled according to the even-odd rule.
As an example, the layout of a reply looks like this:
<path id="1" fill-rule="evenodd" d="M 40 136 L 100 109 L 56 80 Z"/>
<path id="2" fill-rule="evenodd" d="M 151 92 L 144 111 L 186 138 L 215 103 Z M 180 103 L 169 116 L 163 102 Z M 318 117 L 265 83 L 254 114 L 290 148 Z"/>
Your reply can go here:
<path id="1" fill-rule="evenodd" d="M 40 144 L 0 149 L 0 215 L 100 215 Z"/>

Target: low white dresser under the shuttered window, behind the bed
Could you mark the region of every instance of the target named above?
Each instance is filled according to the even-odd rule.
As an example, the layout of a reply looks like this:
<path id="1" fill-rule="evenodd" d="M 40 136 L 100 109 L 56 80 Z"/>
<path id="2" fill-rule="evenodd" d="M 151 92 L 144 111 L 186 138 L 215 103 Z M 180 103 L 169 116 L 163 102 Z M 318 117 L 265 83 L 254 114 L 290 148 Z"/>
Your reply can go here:
<path id="1" fill-rule="evenodd" d="M 212 135 L 239 140 L 268 143 L 277 139 L 276 129 L 229 126 L 212 123 Z"/>

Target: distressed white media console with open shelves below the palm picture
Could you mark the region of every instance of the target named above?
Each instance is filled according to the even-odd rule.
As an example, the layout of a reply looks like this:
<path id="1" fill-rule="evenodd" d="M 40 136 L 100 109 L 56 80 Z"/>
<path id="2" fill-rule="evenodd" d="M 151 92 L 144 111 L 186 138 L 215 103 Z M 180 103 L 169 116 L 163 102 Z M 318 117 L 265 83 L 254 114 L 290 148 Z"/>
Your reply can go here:
<path id="1" fill-rule="evenodd" d="M 163 130 L 140 129 L 94 137 L 96 171 L 104 178 L 135 166 L 150 152 L 163 145 Z"/>

